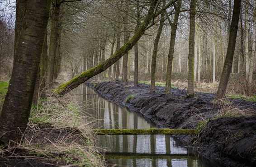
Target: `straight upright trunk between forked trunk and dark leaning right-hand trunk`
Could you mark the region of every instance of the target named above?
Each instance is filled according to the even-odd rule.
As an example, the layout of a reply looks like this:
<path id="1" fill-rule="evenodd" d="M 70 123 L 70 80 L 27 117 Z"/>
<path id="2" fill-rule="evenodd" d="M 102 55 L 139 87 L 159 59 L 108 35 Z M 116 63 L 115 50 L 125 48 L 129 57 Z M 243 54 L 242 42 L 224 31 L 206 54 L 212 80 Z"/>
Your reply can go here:
<path id="1" fill-rule="evenodd" d="M 189 75 L 188 91 L 189 96 L 194 96 L 194 28 L 195 28 L 195 0 L 190 1 L 190 39 L 189 39 Z"/>

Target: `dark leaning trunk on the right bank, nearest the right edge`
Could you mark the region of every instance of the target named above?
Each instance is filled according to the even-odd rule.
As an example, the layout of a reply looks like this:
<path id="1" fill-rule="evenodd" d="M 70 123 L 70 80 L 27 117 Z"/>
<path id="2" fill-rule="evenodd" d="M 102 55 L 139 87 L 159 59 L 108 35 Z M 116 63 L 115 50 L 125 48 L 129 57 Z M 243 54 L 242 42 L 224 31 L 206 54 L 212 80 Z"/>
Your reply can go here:
<path id="1" fill-rule="evenodd" d="M 223 71 L 222 71 L 219 86 L 218 86 L 218 92 L 216 94 L 217 99 L 224 97 L 226 88 L 228 85 L 228 79 L 229 79 L 230 71 L 232 68 L 232 61 L 233 61 L 234 51 L 236 47 L 240 9 L 241 9 L 241 0 L 235 0 L 233 15 L 232 15 L 232 22 L 230 26 L 230 34 L 228 39 L 228 50 L 227 50 L 226 59 L 224 62 Z"/>

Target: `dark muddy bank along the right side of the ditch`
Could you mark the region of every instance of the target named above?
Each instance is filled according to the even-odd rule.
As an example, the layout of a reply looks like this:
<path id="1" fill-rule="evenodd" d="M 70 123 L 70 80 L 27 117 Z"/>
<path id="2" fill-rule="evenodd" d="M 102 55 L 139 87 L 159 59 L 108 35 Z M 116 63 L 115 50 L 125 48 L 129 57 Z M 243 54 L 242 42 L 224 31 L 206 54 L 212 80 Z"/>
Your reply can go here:
<path id="1" fill-rule="evenodd" d="M 256 103 L 233 100 L 226 105 L 213 102 L 214 94 L 172 89 L 164 94 L 163 87 L 151 93 L 149 85 L 124 85 L 103 82 L 90 85 L 102 97 L 140 112 L 161 128 L 198 129 L 199 135 L 175 135 L 204 158 L 229 167 L 256 167 Z M 134 95 L 127 100 L 128 96 Z M 243 116 L 237 116 L 243 115 Z"/>

